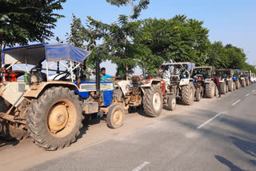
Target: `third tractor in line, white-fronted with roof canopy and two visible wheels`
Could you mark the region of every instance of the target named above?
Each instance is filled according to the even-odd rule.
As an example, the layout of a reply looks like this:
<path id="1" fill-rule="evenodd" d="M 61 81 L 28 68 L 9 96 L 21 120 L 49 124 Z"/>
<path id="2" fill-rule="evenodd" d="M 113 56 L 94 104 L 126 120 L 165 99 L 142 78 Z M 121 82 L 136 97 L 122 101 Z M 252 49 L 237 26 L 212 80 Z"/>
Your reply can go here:
<path id="1" fill-rule="evenodd" d="M 194 67 L 194 63 L 190 62 L 164 63 L 160 66 L 162 80 L 166 82 L 164 101 L 168 109 L 174 110 L 178 99 L 185 105 L 192 105 L 195 90 L 191 74 Z"/>

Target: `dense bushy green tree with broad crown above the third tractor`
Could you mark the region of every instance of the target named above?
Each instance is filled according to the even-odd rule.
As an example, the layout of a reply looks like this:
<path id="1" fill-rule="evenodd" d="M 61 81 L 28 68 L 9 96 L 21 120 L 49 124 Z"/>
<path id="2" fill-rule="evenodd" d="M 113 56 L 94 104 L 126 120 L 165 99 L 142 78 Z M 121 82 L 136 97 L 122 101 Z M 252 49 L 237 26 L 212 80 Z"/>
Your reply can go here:
<path id="1" fill-rule="evenodd" d="M 162 62 L 195 62 L 204 64 L 204 54 L 209 30 L 203 22 L 176 15 L 170 19 L 148 18 L 141 22 L 132 37 L 141 46 L 144 55 L 138 56 L 138 65 L 154 73 Z M 146 52 L 146 53 L 145 53 Z M 145 68 L 146 67 L 146 68 Z"/>

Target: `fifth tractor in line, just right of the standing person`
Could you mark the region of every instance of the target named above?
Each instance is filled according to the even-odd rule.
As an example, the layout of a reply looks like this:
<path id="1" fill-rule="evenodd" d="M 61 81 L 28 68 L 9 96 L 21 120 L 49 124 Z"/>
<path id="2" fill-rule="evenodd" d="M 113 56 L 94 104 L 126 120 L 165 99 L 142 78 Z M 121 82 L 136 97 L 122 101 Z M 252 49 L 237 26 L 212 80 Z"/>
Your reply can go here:
<path id="1" fill-rule="evenodd" d="M 235 88 L 235 82 L 233 80 L 234 70 L 231 69 L 220 69 L 216 70 L 216 74 L 220 79 L 221 91 L 223 94 L 228 91 L 233 92 Z M 226 85 L 224 85 L 226 83 Z M 226 91 L 224 90 L 226 89 Z"/>

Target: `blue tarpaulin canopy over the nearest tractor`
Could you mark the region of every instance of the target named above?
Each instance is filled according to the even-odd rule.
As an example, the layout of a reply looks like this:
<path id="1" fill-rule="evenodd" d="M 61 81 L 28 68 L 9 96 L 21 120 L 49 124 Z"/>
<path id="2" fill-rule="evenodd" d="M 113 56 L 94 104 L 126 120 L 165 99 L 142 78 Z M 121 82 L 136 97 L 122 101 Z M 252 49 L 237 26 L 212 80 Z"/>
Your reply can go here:
<path id="1" fill-rule="evenodd" d="M 34 44 L 29 46 L 17 46 L 2 50 L 3 64 L 30 64 L 37 65 L 45 59 L 47 62 L 74 61 L 81 63 L 89 55 L 90 51 L 66 43 Z"/>

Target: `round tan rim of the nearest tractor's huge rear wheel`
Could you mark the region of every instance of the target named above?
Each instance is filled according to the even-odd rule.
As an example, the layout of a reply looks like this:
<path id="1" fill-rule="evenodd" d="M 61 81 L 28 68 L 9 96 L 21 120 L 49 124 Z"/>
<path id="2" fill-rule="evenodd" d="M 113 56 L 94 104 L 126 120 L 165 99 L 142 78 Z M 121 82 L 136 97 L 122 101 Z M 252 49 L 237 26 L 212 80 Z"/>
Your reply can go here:
<path id="1" fill-rule="evenodd" d="M 47 126 L 54 137 L 66 137 L 74 128 L 76 109 L 70 101 L 55 103 L 47 117 Z"/>

